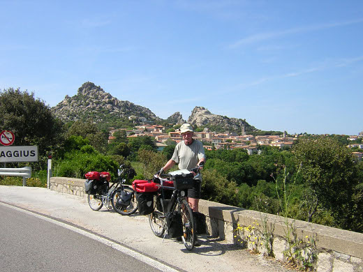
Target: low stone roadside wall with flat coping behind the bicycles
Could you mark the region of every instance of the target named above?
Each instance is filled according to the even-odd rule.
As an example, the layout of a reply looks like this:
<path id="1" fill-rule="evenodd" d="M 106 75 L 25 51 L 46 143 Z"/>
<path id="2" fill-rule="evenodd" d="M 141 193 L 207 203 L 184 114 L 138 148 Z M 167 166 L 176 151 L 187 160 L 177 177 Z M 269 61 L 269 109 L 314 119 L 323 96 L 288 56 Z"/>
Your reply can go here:
<path id="1" fill-rule="evenodd" d="M 84 179 L 52 177 L 50 190 L 84 196 Z M 207 232 L 226 243 L 313 264 L 318 272 L 363 272 L 363 234 L 200 200 Z M 266 238 L 267 237 L 267 238 Z M 290 243 L 289 243 L 290 241 Z M 296 243 L 292 250 L 292 242 Z M 295 255 L 292 255 L 295 254 Z"/>

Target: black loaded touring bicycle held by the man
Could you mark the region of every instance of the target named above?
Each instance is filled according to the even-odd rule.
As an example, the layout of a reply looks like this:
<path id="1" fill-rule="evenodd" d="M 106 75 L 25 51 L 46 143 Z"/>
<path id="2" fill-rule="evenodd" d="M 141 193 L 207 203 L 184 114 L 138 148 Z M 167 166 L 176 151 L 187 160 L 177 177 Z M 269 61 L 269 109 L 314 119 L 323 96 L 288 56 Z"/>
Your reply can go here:
<path id="1" fill-rule="evenodd" d="M 185 190 L 192 188 L 195 179 L 188 170 L 178 170 L 169 174 L 154 176 L 153 181 L 160 183 L 154 202 L 154 211 L 149 214 L 152 232 L 158 237 L 166 234 L 171 238 L 182 237 L 187 250 L 195 244 L 195 221 L 193 211 L 186 201 Z"/>

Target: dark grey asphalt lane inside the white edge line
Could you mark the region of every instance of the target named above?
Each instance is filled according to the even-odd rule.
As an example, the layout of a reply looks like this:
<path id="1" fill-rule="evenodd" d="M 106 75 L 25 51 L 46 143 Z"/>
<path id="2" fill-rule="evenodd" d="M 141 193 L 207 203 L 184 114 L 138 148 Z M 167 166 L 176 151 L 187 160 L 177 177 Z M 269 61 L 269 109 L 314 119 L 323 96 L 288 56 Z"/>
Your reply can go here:
<path id="1" fill-rule="evenodd" d="M 0 271 L 159 271 L 56 220 L 4 205 L 0 218 Z"/>

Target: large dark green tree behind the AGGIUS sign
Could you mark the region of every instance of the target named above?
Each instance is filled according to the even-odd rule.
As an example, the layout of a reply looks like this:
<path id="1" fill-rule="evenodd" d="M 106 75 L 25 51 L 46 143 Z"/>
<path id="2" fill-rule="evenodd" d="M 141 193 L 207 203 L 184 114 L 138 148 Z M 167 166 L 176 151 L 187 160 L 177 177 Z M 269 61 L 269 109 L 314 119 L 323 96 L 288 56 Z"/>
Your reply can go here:
<path id="1" fill-rule="evenodd" d="M 63 141 L 61 121 L 54 118 L 43 100 L 20 89 L 0 91 L 0 128 L 15 134 L 15 146 L 38 146 L 47 156 Z"/>

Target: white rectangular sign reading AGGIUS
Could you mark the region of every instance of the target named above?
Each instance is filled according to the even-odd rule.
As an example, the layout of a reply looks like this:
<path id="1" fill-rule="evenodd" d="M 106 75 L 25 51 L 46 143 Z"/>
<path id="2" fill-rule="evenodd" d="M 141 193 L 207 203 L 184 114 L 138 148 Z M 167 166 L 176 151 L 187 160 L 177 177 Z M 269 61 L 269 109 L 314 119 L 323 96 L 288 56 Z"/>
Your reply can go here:
<path id="1" fill-rule="evenodd" d="M 0 146 L 0 163 L 37 161 L 38 146 Z"/>

